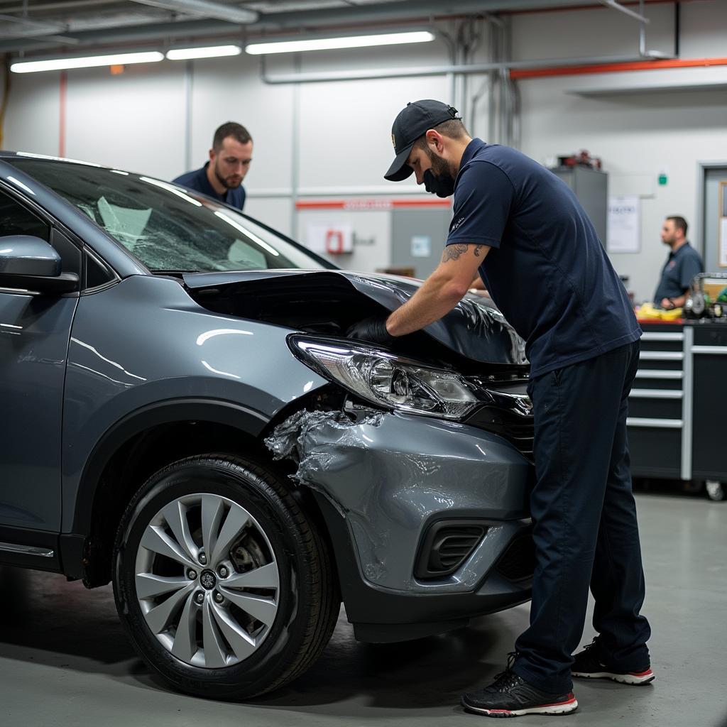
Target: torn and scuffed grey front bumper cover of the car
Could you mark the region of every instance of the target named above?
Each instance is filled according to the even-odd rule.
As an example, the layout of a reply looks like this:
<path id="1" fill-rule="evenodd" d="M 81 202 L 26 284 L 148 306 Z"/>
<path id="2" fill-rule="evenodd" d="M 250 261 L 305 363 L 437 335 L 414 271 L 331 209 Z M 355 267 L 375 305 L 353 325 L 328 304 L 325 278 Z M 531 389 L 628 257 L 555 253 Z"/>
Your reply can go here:
<path id="1" fill-rule="evenodd" d="M 345 518 L 361 571 L 379 587 L 470 590 L 524 527 L 518 518 L 528 516 L 528 463 L 507 442 L 467 425 L 372 409 L 357 417 L 302 410 L 265 444 L 275 459 L 296 462 L 292 477 L 324 494 Z M 414 579 L 427 523 L 473 513 L 497 523 L 467 563 L 436 582 Z"/>

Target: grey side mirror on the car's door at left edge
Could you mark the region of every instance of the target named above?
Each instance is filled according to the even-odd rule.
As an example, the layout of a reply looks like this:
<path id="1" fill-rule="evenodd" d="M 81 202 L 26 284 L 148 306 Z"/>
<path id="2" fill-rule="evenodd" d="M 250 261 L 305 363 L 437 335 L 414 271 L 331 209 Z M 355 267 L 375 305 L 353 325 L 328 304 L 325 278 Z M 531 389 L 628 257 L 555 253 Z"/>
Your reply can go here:
<path id="1" fill-rule="evenodd" d="M 60 255 L 45 240 L 10 235 L 0 237 L 0 287 L 68 293 L 79 289 L 79 276 L 61 273 Z"/>

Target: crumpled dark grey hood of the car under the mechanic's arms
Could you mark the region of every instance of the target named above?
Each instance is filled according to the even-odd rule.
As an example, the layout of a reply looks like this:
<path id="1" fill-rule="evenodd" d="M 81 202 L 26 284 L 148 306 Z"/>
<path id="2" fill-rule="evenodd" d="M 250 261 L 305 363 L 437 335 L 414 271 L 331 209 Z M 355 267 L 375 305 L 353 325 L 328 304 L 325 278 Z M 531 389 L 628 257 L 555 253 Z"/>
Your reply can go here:
<path id="1" fill-rule="evenodd" d="M 191 291 L 225 289 L 228 286 L 251 294 L 265 292 L 274 286 L 350 285 L 353 290 L 373 300 L 387 310 L 396 310 L 422 285 L 414 278 L 374 273 L 353 273 L 348 270 L 247 270 L 225 273 L 186 273 L 182 276 Z M 505 321 L 494 304 L 473 294 L 467 294 L 443 318 L 427 326 L 425 333 L 465 358 L 486 364 L 527 364 L 525 342 Z"/>

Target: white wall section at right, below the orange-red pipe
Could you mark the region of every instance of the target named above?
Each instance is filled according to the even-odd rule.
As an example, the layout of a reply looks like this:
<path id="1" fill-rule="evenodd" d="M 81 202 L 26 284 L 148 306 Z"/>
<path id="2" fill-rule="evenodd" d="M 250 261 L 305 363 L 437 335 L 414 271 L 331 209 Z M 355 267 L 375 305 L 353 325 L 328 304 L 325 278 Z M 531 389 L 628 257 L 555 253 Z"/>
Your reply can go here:
<path id="1" fill-rule="evenodd" d="M 587 149 L 603 158 L 609 193 L 640 195 L 640 252 L 612 254 L 611 260 L 630 276 L 637 300 L 651 300 L 668 253 L 659 237 L 664 217 L 686 217 L 688 237 L 702 247 L 696 233 L 697 160 L 727 158 L 725 100 L 714 92 L 684 94 L 686 103 L 675 103 L 673 93 L 584 99 L 564 94 L 562 84 L 523 82 L 523 151 L 543 160 Z M 657 184 L 662 170 L 664 186 Z"/>

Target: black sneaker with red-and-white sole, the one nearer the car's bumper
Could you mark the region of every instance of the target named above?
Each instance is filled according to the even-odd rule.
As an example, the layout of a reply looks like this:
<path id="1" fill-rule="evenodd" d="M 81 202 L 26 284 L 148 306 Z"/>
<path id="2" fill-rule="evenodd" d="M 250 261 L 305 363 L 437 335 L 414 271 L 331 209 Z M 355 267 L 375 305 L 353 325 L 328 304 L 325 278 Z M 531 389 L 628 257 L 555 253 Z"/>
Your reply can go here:
<path id="1" fill-rule="evenodd" d="M 507 659 L 507 669 L 495 677 L 490 686 L 462 694 L 462 707 L 468 712 L 488 717 L 521 715 L 567 715 L 578 708 L 572 692 L 548 694 L 527 683 L 513 672 L 515 653 Z"/>

